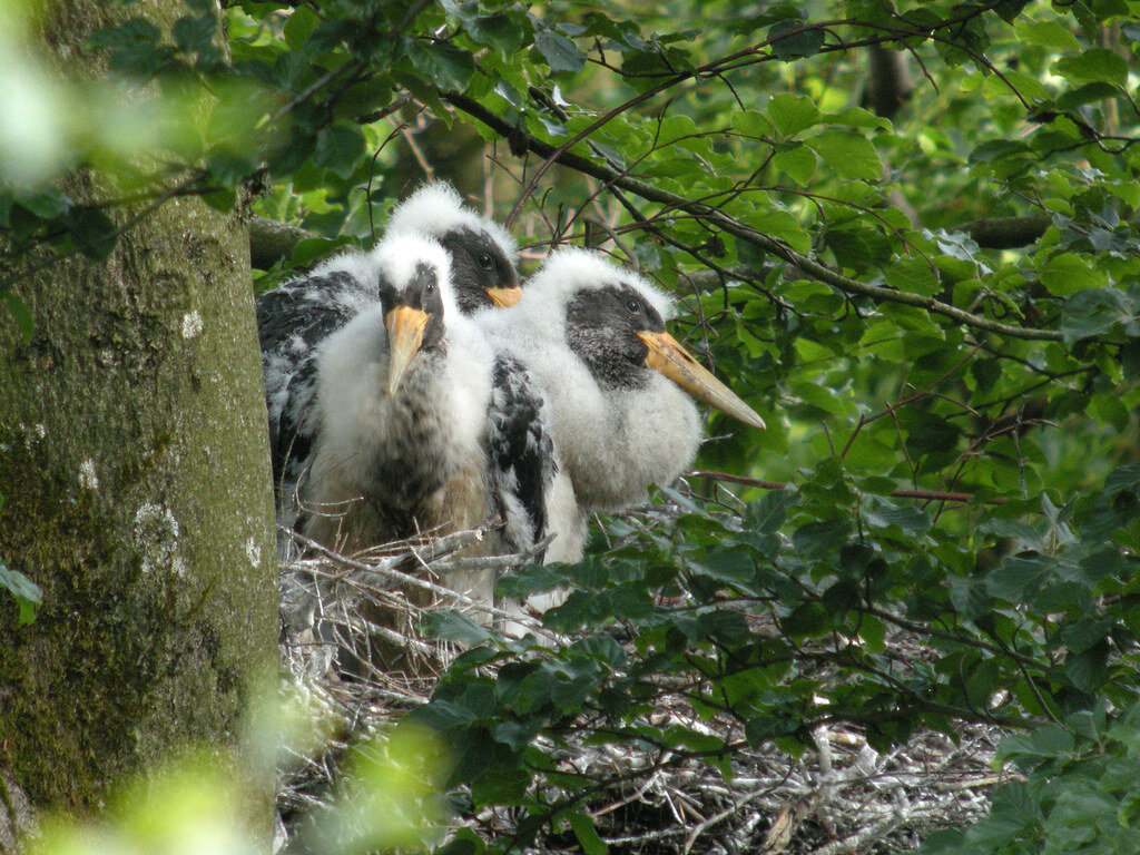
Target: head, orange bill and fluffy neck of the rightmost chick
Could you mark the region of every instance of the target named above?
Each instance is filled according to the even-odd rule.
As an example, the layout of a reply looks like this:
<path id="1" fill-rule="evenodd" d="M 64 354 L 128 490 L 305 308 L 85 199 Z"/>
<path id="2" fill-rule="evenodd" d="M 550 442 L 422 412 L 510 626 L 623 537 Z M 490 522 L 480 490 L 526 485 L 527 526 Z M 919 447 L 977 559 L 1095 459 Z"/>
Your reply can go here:
<path id="1" fill-rule="evenodd" d="M 593 252 L 549 255 L 513 308 L 477 323 L 538 385 L 559 459 L 587 511 L 645 500 L 701 441 L 692 398 L 754 427 L 764 420 L 666 331 L 673 302 Z M 692 397 L 690 397 L 692 396 Z"/>

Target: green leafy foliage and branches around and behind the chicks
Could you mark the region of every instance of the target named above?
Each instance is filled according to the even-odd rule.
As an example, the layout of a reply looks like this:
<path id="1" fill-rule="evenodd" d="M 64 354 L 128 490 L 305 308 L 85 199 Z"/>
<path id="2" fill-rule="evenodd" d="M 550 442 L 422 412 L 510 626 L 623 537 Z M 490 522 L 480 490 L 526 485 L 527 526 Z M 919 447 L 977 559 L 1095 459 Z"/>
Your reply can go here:
<path id="1" fill-rule="evenodd" d="M 233 2 L 226 57 L 195 0 L 169 33 L 128 19 L 92 43 L 121 85 L 147 84 L 131 106 L 23 48 L 3 72 L 42 98 L 35 115 L 7 99 L 0 122 L 0 294 L 31 327 L 9 290 L 22 253 L 98 263 L 131 226 L 121 203 L 186 194 L 317 235 L 256 274 L 268 287 L 367 244 L 429 142 L 479 135 L 483 189 L 530 255 L 585 239 L 641 266 L 771 417 L 710 418 L 699 465 L 722 474 L 667 494 L 674 524 L 611 520 L 581 567 L 503 584 L 571 583 L 546 620 L 578 640 L 486 640 L 421 712 L 467 807 L 522 817 L 516 838 L 455 850 L 563 826 L 601 850 L 594 782 L 549 748 L 570 730 L 728 774 L 736 744 L 796 752 L 842 720 L 880 747 L 960 722 L 1016 734 L 1003 758 L 1024 781 L 926 852 L 1134 852 L 1138 13 Z M 116 195 L 54 190 L 79 164 Z M 901 635 L 929 656 L 896 657 Z M 727 735 L 656 727 L 666 695 Z"/>

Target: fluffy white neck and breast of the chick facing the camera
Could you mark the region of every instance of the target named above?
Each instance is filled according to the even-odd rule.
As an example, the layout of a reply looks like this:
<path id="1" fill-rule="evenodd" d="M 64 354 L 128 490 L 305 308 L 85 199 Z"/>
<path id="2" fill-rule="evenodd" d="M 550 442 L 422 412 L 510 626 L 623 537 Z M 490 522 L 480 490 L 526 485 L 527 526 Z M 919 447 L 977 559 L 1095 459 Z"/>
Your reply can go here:
<path id="1" fill-rule="evenodd" d="M 320 432 L 308 500 L 344 513 L 339 528 L 358 545 L 406 536 L 400 529 L 413 518 L 421 528 L 451 522 L 433 519 L 432 508 L 442 507 L 437 494 L 483 459 L 489 349 L 469 321 L 449 318 L 442 352 L 417 353 L 389 397 L 383 319 L 376 306 L 329 336 L 318 368 Z M 392 523 L 400 514 L 407 520 Z M 370 527 L 381 530 L 360 530 Z"/>

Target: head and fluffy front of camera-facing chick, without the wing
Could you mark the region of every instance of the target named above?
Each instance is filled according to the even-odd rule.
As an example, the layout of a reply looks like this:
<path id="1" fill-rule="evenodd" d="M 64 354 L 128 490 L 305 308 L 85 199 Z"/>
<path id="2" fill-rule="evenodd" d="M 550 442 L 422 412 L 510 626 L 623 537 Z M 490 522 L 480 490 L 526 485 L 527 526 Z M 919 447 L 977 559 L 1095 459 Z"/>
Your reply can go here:
<path id="1" fill-rule="evenodd" d="M 487 513 L 492 358 L 451 293 L 447 252 L 409 234 L 370 253 L 378 304 L 320 347 L 307 532 L 357 549 Z"/>

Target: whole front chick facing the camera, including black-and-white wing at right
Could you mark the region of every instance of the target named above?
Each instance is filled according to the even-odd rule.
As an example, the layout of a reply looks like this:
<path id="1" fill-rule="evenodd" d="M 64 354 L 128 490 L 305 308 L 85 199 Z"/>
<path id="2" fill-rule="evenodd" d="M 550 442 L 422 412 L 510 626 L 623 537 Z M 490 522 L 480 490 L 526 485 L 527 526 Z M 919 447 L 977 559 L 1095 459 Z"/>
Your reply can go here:
<path id="1" fill-rule="evenodd" d="M 353 552 L 497 515 L 504 529 L 480 552 L 532 548 L 552 497 L 572 496 L 542 397 L 459 310 L 437 242 L 393 234 L 372 259 L 380 302 L 318 349 L 304 532 Z"/>

